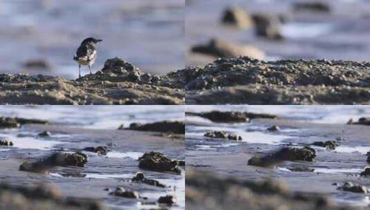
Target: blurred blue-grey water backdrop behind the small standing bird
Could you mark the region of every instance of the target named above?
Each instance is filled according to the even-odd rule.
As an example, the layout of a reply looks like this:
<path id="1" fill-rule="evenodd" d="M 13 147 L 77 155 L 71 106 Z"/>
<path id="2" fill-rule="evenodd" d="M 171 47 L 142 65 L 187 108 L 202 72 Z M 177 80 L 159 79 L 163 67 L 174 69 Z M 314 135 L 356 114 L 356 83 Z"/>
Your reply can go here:
<path id="1" fill-rule="evenodd" d="M 104 40 L 94 73 L 113 57 L 148 73 L 183 68 L 184 6 L 185 0 L 0 1 L 0 73 L 75 79 L 73 55 L 86 37 Z"/>

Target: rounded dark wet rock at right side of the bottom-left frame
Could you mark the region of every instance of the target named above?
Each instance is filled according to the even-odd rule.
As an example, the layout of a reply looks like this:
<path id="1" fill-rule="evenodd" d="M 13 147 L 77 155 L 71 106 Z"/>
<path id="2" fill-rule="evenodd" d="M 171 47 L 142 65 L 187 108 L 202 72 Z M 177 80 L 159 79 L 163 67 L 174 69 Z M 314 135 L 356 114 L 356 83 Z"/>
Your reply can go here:
<path id="1" fill-rule="evenodd" d="M 167 158 L 163 153 L 148 152 L 139 158 L 139 168 L 150 171 L 173 172 L 181 174 L 176 160 Z"/>

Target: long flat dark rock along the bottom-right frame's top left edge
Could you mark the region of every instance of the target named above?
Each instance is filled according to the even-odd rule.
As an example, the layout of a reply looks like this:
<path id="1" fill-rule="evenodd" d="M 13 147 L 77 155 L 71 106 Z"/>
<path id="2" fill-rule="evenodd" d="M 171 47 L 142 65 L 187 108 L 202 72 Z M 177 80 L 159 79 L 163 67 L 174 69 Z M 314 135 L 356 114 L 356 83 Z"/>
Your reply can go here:
<path id="1" fill-rule="evenodd" d="M 187 113 L 187 115 L 196 115 L 199 117 L 207 118 L 212 122 L 249 122 L 255 118 L 267 118 L 275 119 L 277 115 L 268 115 L 268 114 L 256 114 L 256 113 L 241 113 L 234 111 L 211 111 L 206 113 Z"/>

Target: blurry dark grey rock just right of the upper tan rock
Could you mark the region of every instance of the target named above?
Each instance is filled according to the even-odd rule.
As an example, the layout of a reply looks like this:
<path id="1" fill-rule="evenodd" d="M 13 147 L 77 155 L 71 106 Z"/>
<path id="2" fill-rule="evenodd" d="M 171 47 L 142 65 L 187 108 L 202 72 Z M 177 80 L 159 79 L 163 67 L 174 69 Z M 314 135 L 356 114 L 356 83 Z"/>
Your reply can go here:
<path id="1" fill-rule="evenodd" d="M 256 34 L 272 40 L 284 39 L 281 35 L 281 19 L 275 15 L 253 15 Z"/>

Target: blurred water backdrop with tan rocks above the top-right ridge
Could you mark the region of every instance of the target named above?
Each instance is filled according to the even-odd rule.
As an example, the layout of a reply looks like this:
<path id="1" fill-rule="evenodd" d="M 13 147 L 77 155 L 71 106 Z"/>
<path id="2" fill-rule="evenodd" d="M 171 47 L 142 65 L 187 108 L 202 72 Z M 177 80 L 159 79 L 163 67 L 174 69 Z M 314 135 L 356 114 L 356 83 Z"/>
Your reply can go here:
<path id="1" fill-rule="evenodd" d="M 185 16 L 187 66 L 220 55 L 370 61 L 367 0 L 187 0 Z"/>

